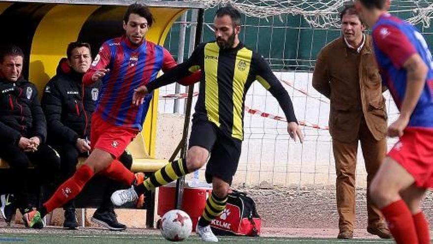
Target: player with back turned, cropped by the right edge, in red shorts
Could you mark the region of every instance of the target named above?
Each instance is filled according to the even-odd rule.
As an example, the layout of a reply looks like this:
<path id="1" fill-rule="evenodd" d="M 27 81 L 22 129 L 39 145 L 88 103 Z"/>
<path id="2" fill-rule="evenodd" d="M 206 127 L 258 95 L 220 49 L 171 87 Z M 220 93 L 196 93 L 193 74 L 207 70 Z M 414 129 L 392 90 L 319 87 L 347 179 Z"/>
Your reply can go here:
<path id="1" fill-rule="evenodd" d="M 372 27 L 374 51 L 399 118 L 388 128 L 399 137 L 371 183 L 370 194 L 398 244 L 430 244 L 420 209 L 433 187 L 433 62 L 426 40 L 412 25 L 391 16 L 390 0 L 357 0 Z"/>

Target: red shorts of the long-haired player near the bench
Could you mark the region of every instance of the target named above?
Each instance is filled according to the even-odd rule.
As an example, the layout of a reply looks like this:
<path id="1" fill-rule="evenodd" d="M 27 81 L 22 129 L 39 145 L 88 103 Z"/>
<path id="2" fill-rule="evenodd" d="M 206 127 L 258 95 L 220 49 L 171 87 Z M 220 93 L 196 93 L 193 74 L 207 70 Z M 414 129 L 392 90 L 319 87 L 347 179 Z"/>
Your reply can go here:
<path id="1" fill-rule="evenodd" d="M 101 149 L 117 159 L 138 133 L 137 129 L 110 124 L 104 121 L 99 114 L 93 113 L 90 145 L 92 150 L 93 148 Z"/>

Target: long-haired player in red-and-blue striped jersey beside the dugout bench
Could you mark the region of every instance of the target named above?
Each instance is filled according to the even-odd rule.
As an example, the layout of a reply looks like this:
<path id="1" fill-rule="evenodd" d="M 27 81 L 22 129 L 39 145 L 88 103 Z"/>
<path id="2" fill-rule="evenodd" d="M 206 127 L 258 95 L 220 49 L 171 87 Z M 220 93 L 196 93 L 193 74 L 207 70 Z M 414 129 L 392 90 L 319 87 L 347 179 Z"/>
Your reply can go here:
<path id="1" fill-rule="evenodd" d="M 92 115 L 92 153 L 41 209 L 25 216 L 28 226 L 43 227 L 42 217 L 77 196 L 94 174 L 119 180 L 125 185 L 143 182 L 142 173 L 134 175 L 117 159 L 141 131 L 152 99 L 148 96 L 143 105 L 133 106 L 134 90 L 153 81 L 159 70 L 167 71 L 176 66 L 166 49 L 145 39 L 153 21 L 148 7 L 131 4 L 124 15 L 125 35 L 103 43 L 91 68 L 83 76 L 84 85 L 102 80 Z M 198 71 L 180 83 L 192 84 L 199 77 Z"/>

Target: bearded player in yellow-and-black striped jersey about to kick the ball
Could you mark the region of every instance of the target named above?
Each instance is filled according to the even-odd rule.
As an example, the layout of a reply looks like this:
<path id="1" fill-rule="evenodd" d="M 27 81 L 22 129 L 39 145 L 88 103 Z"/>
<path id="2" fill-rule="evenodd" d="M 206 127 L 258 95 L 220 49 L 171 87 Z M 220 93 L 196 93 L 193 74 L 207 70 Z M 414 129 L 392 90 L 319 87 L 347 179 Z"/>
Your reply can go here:
<path id="1" fill-rule="evenodd" d="M 206 179 L 213 183 L 213 192 L 196 229 L 204 241 L 210 242 L 218 239 L 209 224 L 225 208 L 238 167 L 244 138 L 244 101 L 252 82 L 260 82 L 278 100 L 288 121 L 289 135 L 303 141 L 290 97 L 263 57 L 239 41 L 240 24 L 238 10 L 233 7 L 218 9 L 214 20 L 216 41 L 201 44 L 185 63 L 135 91 L 133 102 L 139 105 L 154 89 L 197 70 L 202 72 L 186 159 L 169 163 L 143 185 L 117 191 L 112 196 L 116 205 L 135 200 L 137 193 L 140 195 L 200 169 L 210 155 Z"/>

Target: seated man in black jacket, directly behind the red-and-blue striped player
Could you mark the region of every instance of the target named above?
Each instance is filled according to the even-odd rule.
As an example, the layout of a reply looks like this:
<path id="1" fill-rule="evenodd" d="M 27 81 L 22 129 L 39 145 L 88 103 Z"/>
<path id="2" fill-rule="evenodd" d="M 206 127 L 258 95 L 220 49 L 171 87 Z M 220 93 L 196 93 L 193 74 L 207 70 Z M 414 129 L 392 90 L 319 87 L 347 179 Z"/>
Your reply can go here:
<path id="1" fill-rule="evenodd" d="M 98 81 L 84 87 L 83 90 L 81 79 L 92 63 L 90 50 L 88 43 L 69 43 L 66 50 L 67 59 L 63 58 L 59 62 L 57 74 L 46 85 L 42 97 L 42 108 L 48 124 L 47 140 L 60 154 L 62 180 L 75 173 L 78 157 L 87 157 L 90 152 L 91 118 L 100 87 Z M 119 160 L 126 168 L 131 168 L 130 154 L 124 152 Z M 124 224 L 117 221 L 110 200 L 111 194 L 120 187 L 121 183 L 110 181 L 101 206 L 93 214 L 93 222 L 110 230 L 126 229 Z M 78 223 L 73 200 L 63 209 L 63 227 L 76 229 Z"/>

